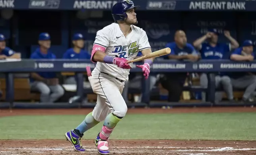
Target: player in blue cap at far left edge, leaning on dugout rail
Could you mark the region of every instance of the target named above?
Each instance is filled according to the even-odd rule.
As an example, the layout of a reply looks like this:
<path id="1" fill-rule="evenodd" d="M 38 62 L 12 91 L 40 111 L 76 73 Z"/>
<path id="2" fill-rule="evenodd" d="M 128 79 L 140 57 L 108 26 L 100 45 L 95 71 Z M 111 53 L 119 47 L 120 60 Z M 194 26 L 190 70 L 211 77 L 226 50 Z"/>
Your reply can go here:
<path id="1" fill-rule="evenodd" d="M 6 38 L 3 34 L 0 34 L 0 59 L 20 59 L 20 53 L 15 53 L 9 47 L 6 47 Z"/>

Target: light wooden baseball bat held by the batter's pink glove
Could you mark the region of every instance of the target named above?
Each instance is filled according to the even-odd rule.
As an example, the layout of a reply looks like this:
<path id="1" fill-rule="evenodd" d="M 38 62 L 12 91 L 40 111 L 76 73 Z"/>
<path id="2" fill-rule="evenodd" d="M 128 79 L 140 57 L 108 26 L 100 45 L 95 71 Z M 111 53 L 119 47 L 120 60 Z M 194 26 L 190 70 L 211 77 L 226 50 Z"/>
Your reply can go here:
<path id="1" fill-rule="evenodd" d="M 145 55 L 143 57 L 139 57 L 137 59 L 129 60 L 127 63 L 132 63 L 132 62 L 136 62 L 136 61 L 140 61 L 140 60 L 161 57 L 163 55 L 167 55 L 167 54 L 170 54 L 170 53 L 171 53 L 171 49 L 169 47 L 167 47 L 167 48 L 160 49 L 158 51 L 152 52 L 152 53 L 150 53 L 148 55 Z"/>

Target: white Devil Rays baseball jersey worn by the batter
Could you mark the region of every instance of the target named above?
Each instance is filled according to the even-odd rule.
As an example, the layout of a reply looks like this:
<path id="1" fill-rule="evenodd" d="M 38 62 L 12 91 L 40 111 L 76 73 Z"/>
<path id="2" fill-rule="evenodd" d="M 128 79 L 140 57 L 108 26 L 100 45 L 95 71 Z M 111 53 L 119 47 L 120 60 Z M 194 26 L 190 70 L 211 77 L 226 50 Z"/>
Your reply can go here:
<path id="1" fill-rule="evenodd" d="M 132 32 L 126 37 L 117 23 L 112 23 L 99 30 L 96 34 L 94 44 L 106 48 L 105 53 L 112 57 L 133 60 L 138 51 L 151 48 L 146 32 L 137 26 L 131 25 Z M 132 63 L 130 63 L 132 66 Z M 130 69 L 118 68 L 116 64 L 97 62 L 96 68 L 121 80 L 128 80 Z"/>

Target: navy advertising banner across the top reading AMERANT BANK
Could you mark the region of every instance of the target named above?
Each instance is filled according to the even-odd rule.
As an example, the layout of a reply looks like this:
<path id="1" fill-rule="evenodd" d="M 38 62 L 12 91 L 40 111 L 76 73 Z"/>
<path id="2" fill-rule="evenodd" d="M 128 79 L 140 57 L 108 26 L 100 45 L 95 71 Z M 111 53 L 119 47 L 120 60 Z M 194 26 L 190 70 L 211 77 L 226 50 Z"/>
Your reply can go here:
<path id="1" fill-rule="evenodd" d="M 0 0 L 0 8 L 110 10 L 117 0 Z M 141 10 L 256 11 L 253 0 L 133 0 Z"/>

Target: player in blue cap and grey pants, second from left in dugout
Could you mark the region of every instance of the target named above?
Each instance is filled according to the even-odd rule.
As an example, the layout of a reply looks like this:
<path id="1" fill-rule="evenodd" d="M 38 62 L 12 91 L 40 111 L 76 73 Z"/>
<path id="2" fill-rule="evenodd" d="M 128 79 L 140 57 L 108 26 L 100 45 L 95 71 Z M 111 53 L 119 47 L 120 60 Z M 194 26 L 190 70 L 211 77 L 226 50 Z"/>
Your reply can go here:
<path id="1" fill-rule="evenodd" d="M 56 56 L 50 52 L 50 35 L 41 33 L 39 35 L 39 48 L 31 54 L 30 59 L 56 59 Z M 31 90 L 41 93 L 41 102 L 55 102 L 64 95 L 64 89 L 59 85 L 55 72 L 37 72 L 31 73 Z"/>

